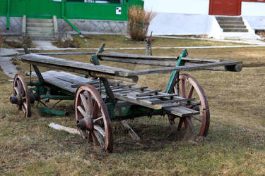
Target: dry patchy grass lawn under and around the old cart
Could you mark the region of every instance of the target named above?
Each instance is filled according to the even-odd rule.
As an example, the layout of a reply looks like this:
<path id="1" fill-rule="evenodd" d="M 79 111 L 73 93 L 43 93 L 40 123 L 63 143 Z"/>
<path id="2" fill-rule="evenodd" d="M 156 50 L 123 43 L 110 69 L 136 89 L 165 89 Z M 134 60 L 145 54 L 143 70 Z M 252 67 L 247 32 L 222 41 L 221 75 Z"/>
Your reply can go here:
<path id="1" fill-rule="evenodd" d="M 97 37 L 98 44 L 91 41 L 91 47 L 106 40 L 105 36 Z M 176 42 L 184 41 L 176 39 Z M 187 46 L 206 45 L 205 41 L 186 42 Z M 114 46 L 138 45 L 115 42 Z M 161 41 L 157 46 L 165 44 Z M 153 54 L 175 56 L 180 51 L 154 50 Z M 114 153 L 102 153 L 78 135 L 48 127 L 50 122 L 75 127 L 73 101 L 59 103 L 58 108 L 69 111 L 69 116 L 43 115 L 33 108 L 32 117 L 23 118 L 22 112 L 9 103 L 12 83 L 0 72 L 0 175 L 265 175 L 265 49 L 190 49 L 189 57 L 244 61 L 240 73 L 184 72 L 201 83 L 208 98 L 211 125 L 206 139 L 194 142 L 167 137 L 170 130 L 166 117 L 143 117 L 128 120 L 140 135 L 140 142 L 132 142 L 119 122 L 112 123 Z M 90 61 L 90 56 L 61 58 Z M 131 70 L 148 68 L 101 63 Z M 28 64 L 20 61 L 18 64 L 21 73 L 29 70 Z M 169 73 L 142 75 L 138 84 L 165 89 L 169 77 Z"/>

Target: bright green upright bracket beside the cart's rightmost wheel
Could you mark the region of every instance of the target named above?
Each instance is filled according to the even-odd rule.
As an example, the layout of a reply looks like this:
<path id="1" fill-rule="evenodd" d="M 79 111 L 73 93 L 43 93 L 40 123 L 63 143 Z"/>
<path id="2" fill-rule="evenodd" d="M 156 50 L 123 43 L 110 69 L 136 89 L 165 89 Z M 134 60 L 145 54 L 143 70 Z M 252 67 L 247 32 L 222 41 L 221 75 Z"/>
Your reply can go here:
<path id="1" fill-rule="evenodd" d="M 179 55 L 179 58 L 177 60 L 176 67 L 181 65 L 182 57 L 186 57 L 186 56 L 188 56 L 188 51 L 187 51 L 187 49 L 183 49 L 182 53 Z M 177 77 L 179 77 L 179 71 L 172 72 L 171 77 L 170 77 L 170 81 L 167 84 L 167 89 L 165 90 L 165 93 L 168 94 L 172 91 L 173 87 L 175 86 L 175 82 L 177 80 Z"/>

